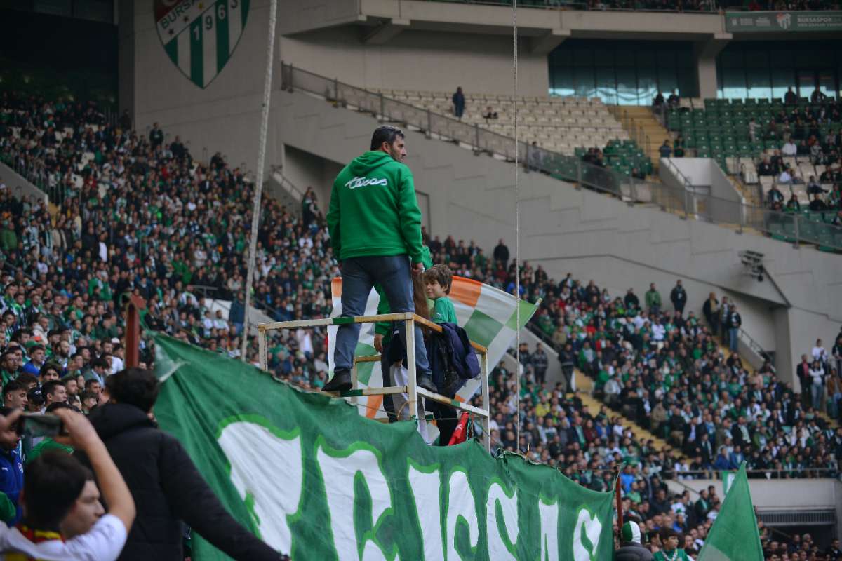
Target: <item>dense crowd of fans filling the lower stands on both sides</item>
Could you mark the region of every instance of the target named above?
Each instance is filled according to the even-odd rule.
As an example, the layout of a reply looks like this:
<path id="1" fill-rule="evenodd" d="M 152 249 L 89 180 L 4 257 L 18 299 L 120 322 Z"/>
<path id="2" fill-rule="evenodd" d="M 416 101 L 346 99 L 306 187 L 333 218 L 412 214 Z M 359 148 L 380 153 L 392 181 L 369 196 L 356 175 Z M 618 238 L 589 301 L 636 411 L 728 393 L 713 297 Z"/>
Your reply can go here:
<path id="1" fill-rule="evenodd" d="M 57 208 L 48 209 L 0 188 L 6 405 L 41 410 L 67 400 L 93 408 L 109 374 L 123 368 L 125 293 L 147 299 L 152 329 L 239 357 L 252 185 L 221 155 L 205 165 L 178 137 L 163 139 L 157 126 L 140 135 L 105 124 L 93 106 L 0 98 L 0 158 L 59 194 Z M 338 270 L 312 189 L 300 210 L 297 218 L 274 199 L 263 204 L 254 302 L 275 320 L 331 309 L 329 283 Z M 531 326 L 559 352 L 565 379 L 545 383 L 549 358 L 537 348 L 521 349 L 520 399 L 514 376 L 503 365 L 494 370 L 491 428 L 499 447 L 557 465 L 594 490 L 610 489 L 620 470 L 626 511 L 650 532 L 682 532 L 690 548 L 704 539 L 718 499 L 702 495 L 699 506 L 689 496 L 670 497 L 665 479 L 701 477 L 743 459 L 771 477 L 816 476 L 810 468 L 837 474 L 842 430 L 830 429 L 816 408 L 829 398 L 829 412 L 839 415 L 842 384 L 832 368 L 842 340 L 820 355 L 827 368 L 821 391 L 799 396 L 770 365 L 749 372 L 736 353 L 722 352 L 719 331 L 733 346 L 738 329 L 724 298 L 706 304 L 705 325 L 693 311 L 684 314 L 679 285 L 668 311 L 654 286 L 641 303 L 631 289 L 613 298 L 594 281 L 568 275 L 557 283 L 528 263 L 516 272 L 502 240 L 490 255 L 452 236 L 426 241 L 434 262 L 456 275 L 514 293 L 520 274 L 520 296 L 544 301 Z M 211 299 L 232 300 L 227 318 L 211 309 Z M 269 368 L 320 388 L 328 370 L 324 336 L 301 330 L 276 339 Z M 254 361 L 256 349 L 248 352 Z M 152 363 L 148 341 L 141 357 L 141 366 Z M 571 391 L 573 368 L 594 379 L 605 402 L 598 412 Z M 812 382 L 809 370 L 803 379 Z M 51 384 L 56 378 L 64 384 Z M 641 442 L 616 411 L 674 449 Z"/>

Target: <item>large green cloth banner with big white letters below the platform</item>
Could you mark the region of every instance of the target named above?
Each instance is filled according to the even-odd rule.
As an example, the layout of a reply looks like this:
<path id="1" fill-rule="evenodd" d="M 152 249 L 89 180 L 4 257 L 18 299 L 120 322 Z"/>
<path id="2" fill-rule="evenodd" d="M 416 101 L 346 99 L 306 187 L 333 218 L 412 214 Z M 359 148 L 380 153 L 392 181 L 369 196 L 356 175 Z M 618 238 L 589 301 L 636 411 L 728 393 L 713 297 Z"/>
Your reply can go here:
<path id="1" fill-rule="evenodd" d="M 155 336 L 155 415 L 228 511 L 292 559 L 600 561 L 612 498 L 480 444 L 429 447 L 344 400 Z M 193 558 L 226 556 L 193 536 Z"/>

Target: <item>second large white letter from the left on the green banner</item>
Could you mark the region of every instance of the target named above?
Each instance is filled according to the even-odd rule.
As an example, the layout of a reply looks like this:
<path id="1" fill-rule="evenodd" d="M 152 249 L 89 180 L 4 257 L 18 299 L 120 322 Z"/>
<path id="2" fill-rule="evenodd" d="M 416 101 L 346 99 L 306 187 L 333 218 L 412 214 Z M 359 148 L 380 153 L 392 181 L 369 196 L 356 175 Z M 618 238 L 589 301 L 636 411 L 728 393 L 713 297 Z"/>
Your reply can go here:
<path id="1" fill-rule="evenodd" d="M 392 510 L 392 492 L 376 454 L 360 449 L 344 454 L 341 458 L 334 458 L 320 445 L 316 450 L 316 461 L 322 474 L 327 474 L 322 479 L 328 495 L 330 527 L 339 561 L 359 561 L 357 552 L 360 550 L 360 542 L 363 545 L 363 561 L 385 561 L 386 555 L 372 537 L 375 533 L 373 529 L 380 523 L 381 517 L 386 511 Z M 372 530 L 365 532 L 359 541 L 354 529 L 354 478 L 357 474 L 362 474 L 371 495 L 372 518 Z M 349 547 L 350 544 L 356 544 L 357 547 Z"/>

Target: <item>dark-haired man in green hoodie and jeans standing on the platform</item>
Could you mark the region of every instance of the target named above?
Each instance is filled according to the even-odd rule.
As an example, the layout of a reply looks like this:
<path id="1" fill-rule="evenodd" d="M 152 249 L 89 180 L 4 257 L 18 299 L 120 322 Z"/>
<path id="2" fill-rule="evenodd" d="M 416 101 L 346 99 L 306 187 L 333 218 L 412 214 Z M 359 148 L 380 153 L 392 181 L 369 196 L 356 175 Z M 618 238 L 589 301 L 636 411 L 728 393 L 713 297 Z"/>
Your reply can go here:
<path id="1" fill-rule="evenodd" d="M 424 272 L 421 211 L 403 131 L 384 125 L 374 131 L 370 151 L 354 158 L 333 181 L 328 230 L 333 257 L 342 270 L 342 317 L 365 314 L 371 288 L 380 283 L 394 313 L 413 312 L 413 274 Z M 403 335 L 403 322 L 396 322 Z M 360 324 L 339 325 L 333 378 L 322 391 L 351 389 Z M 415 325 L 418 386 L 435 391 L 421 327 Z"/>

